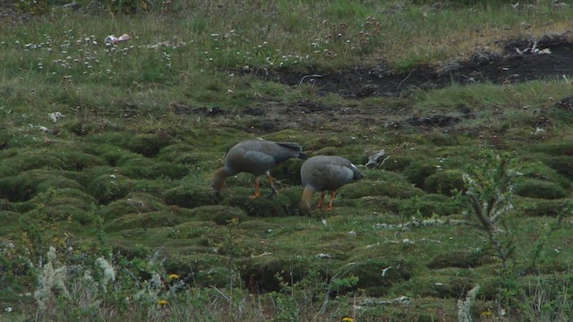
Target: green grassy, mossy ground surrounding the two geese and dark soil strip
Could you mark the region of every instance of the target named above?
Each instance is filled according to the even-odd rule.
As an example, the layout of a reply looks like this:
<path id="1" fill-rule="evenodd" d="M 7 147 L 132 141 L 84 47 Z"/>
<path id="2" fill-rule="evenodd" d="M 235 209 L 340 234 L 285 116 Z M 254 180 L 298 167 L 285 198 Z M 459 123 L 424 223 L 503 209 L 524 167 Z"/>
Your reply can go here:
<path id="1" fill-rule="evenodd" d="M 354 99 L 259 77 L 440 66 L 565 33 L 571 6 L 94 4 L 0 21 L 1 320 L 449 321 L 476 285 L 475 319 L 573 316 L 568 78 Z M 216 199 L 211 175 L 253 137 L 364 178 L 311 217 L 301 160 L 272 170 L 275 199 L 246 199 L 247 174 Z M 481 205 L 511 200 L 495 230 L 464 174 Z"/>

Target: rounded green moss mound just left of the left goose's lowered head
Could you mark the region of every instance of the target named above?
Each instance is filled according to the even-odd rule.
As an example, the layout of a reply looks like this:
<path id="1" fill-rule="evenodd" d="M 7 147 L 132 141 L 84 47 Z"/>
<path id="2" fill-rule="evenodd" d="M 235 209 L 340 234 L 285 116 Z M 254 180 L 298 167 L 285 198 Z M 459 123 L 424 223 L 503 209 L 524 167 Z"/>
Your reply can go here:
<path id="1" fill-rule="evenodd" d="M 167 205 L 175 205 L 184 208 L 209 206 L 217 203 L 212 189 L 204 186 L 184 184 L 169 189 L 162 194 Z"/>

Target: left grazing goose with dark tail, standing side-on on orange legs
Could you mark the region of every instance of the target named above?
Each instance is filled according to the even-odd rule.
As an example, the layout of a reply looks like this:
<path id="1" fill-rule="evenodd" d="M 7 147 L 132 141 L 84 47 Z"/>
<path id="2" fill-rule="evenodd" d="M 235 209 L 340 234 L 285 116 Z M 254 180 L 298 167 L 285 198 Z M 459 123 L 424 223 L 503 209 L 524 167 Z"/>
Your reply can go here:
<path id="1" fill-rule="evenodd" d="M 244 140 L 231 148 L 225 158 L 225 166 L 219 168 L 213 175 L 211 183 L 217 194 L 225 187 L 229 175 L 241 172 L 254 175 L 254 193 L 250 199 L 261 196 L 261 175 L 269 178 L 270 196 L 277 194 L 277 187 L 270 176 L 270 168 L 291 157 L 305 159 L 303 148 L 295 142 L 272 142 L 269 140 Z"/>

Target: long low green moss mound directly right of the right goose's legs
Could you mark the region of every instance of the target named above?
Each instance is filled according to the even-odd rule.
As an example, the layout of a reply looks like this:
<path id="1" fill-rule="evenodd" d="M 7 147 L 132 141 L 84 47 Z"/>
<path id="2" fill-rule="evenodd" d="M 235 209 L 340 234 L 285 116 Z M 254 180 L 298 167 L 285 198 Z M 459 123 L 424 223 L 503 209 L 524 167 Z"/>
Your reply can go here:
<path id="1" fill-rule="evenodd" d="M 367 180 L 346 184 L 338 192 L 348 199 L 359 199 L 367 196 L 406 199 L 423 195 L 423 191 L 412 187 L 406 182 L 372 182 Z"/>

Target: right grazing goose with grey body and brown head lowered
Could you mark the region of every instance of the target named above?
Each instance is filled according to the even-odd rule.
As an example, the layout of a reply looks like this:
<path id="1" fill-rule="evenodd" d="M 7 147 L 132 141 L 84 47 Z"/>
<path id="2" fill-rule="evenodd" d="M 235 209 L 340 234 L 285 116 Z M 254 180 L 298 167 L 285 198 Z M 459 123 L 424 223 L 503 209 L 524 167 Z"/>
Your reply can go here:
<path id="1" fill-rule="evenodd" d="M 330 204 L 324 210 L 332 210 L 332 203 L 337 195 L 338 188 L 353 180 L 362 179 L 362 174 L 356 165 L 344 157 L 317 156 L 304 161 L 301 167 L 301 181 L 303 182 L 303 213 L 311 213 L 312 193 L 321 192 L 318 208 L 324 208 L 324 195 L 330 191 Z"/>

